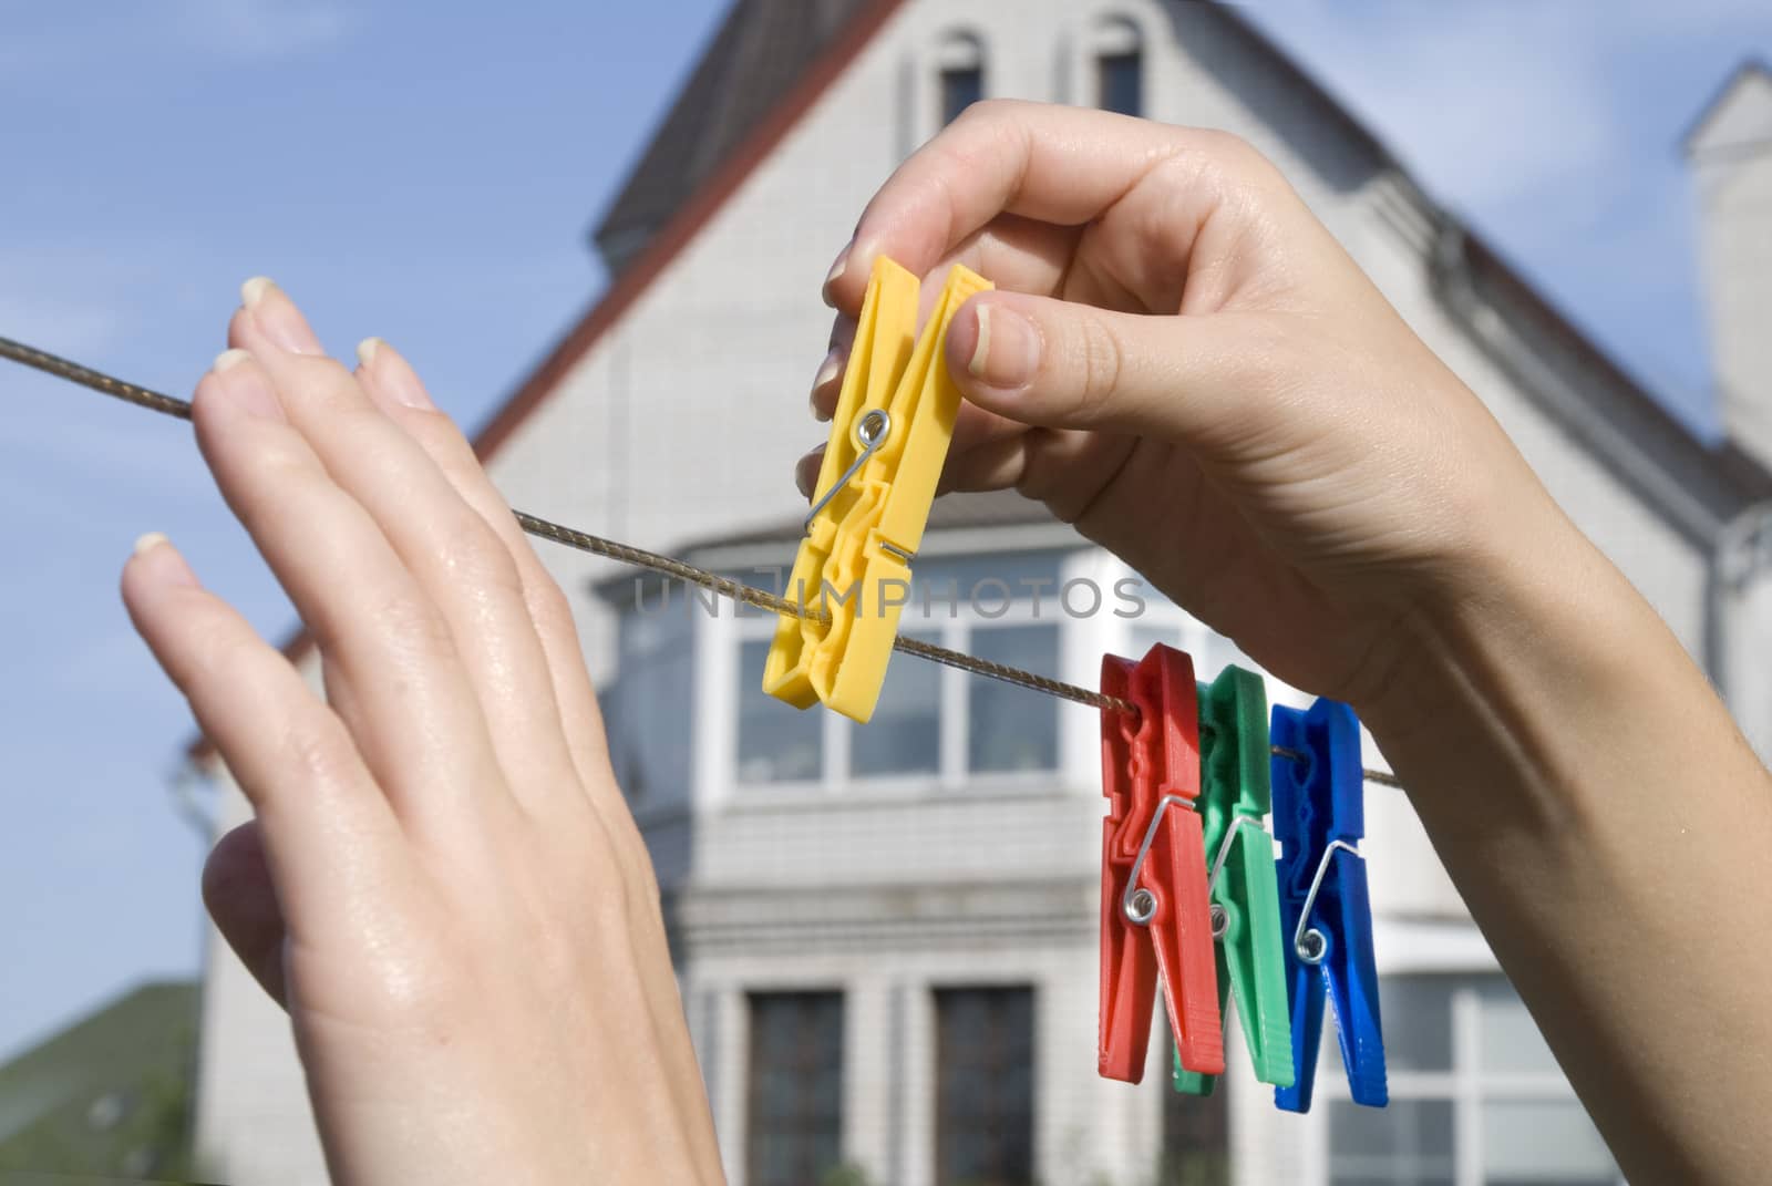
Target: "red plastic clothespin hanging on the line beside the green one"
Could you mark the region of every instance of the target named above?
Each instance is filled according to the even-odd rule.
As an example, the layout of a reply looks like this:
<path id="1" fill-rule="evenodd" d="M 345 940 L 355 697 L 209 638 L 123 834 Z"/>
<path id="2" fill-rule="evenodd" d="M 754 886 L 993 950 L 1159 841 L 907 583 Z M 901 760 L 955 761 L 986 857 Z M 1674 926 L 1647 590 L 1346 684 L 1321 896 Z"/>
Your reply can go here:
<path id="1" fill-rule="evenodd" d="M 1102 709 L 1100 1074 L 1143 1078 L 1159 971 L 1182 1067 L 1223 1074 L 1194 663 L 1162 644 L 1139 663 L 1108 654 L 1102 693 L 1139 714 Z"/>

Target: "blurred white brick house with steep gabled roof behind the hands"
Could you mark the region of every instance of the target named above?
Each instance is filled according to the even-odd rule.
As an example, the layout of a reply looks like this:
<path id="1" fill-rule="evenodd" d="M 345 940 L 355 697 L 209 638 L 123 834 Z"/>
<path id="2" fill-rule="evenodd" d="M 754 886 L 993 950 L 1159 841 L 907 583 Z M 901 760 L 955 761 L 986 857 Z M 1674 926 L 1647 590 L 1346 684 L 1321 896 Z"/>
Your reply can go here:
<path id="1" fill-rule="evenodd" d="M 792 463 L 822 438 L 804 392 L 824 268 L 890 168 L 980 96 L 1226 128 L 1274 158 L 1772 752 L 1772 688 L 1740 661 L 1772 642 L 1772 358 L 1754 333 L 1772 298 L 1772 78 L 1758 67 L 1687 144 L 1729 392 L 1729 438 L 1710 445 L 1233 9 L 735 0 L 597 225 L 608 291 L 480 434 L 512 503 L 767 583 L 801 532 Z M 1161 1041 L 1143 1085 L 1109 1083 L 1093 713 L 907 658 L 865 729 L 796 713 L 758 691 L 769 619 L 542 557 L 604 690 L 735 1186 L 1618 1181 L 1400 794 L 1370 791 L 1364 846 L 1386 1112 L 1348 1103 L 1325 1051 L 1315 1112 L 1276 1113 L 1235 1037 L 1209 1099 L 1170 1092 Z M 1148 590 L 1136 617 L 1042 613 L 1026 590 L 1134 574 L 1015 498 L 937 503 L 916 573 L 930 608 L 907 631 L 1074 683 L 1154 640 L 1205 675 L 1239 659 Z M 989 581 L 1003 596 L 978 605 Z M 245 814 L 229 803 L 223 826 Z M 323 1181 L 287 1026 L 213 948 L 202 1165 Z"/>

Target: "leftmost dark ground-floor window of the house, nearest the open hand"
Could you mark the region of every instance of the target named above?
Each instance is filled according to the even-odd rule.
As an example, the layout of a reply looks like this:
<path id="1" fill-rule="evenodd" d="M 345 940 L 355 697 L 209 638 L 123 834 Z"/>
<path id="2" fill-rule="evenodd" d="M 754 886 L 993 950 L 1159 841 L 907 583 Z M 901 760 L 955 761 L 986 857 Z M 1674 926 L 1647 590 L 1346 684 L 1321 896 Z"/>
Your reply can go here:
<path id="1" fill-rule="evenodd" d="M 806 1186 L 842 1163 L 842 993 L 751 995 L 744 1149 L 751 1186 Z"/>

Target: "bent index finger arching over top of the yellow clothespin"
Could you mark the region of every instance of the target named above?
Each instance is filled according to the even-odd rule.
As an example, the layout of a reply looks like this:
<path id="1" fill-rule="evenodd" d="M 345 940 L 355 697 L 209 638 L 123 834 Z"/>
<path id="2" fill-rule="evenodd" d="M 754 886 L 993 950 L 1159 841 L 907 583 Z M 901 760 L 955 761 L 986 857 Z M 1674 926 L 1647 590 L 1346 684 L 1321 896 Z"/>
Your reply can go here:
<path id="1" fill-rule="evenodd" d="M 1214 135 L 1074 106 L 975 103 L 874 195 L 826 296 L 856 316 L 875 255 L 927 275 L 999 215 L 1088 223 L 1162 161 L 1203 152 Z"/>

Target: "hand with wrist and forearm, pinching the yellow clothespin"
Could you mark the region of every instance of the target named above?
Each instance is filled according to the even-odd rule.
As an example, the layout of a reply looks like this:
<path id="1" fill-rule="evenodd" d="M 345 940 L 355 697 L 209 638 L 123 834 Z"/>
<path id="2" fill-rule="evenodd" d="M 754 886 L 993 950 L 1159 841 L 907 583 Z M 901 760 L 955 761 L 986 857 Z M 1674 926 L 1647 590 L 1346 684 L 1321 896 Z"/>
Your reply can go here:
<path id="1" fill-rule="evenodd" d="M 1044 500 L 1359 707 L 1630 1179 L 1765 1177 L 1772 778 L 1274 168 L 1217 133 L 969 108 L 838 255 L 822 417 L 877 254 L 999 285 L 948 332 L 948 488 Z"/>

